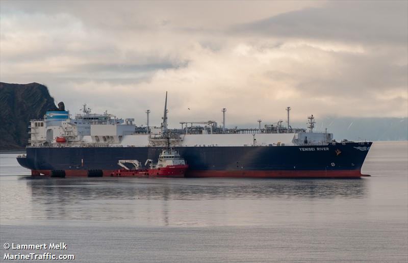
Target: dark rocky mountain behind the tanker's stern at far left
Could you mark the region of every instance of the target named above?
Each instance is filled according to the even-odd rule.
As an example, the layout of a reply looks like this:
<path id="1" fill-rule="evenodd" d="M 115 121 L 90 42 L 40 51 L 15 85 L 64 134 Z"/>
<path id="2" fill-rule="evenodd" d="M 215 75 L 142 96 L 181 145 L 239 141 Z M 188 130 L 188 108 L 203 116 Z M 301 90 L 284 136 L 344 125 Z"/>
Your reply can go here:
<path id="1" fill-rule="evenodd" d="M 56 110 L 46 86 L 0 82 L 0 150 L 23 149 L 28 144 L 31 119 Z"/>

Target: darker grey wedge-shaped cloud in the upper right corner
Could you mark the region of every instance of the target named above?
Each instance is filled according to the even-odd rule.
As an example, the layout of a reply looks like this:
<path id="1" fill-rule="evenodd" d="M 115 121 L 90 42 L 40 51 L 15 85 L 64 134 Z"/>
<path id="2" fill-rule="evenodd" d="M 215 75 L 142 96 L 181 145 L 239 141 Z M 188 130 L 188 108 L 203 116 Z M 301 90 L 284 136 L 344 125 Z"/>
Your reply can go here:
<path id="1" fill-rule="evenodd" d="M 359 42 L 408 38 L 407 1 L 340 1 L 234 26 L 235 34 Z"/>

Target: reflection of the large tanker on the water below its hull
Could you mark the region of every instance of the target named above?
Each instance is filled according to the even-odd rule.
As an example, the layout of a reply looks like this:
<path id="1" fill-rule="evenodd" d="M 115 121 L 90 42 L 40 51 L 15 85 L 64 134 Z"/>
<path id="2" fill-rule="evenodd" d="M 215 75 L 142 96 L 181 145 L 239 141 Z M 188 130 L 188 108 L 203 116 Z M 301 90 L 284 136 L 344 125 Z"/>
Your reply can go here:
<path id="1" fill-rule="evenodd" d="M 125 225 L 296 221 L 310 215 L 315 204 L 325 212 L 335 212 L 334 200 L 343 199 L 342 205 L 355 204 L 366 193 L 365 179 L 24 179 L 32 195 L 32 220 L 115 221 Z M 294 208 L 290 214 L 287 205 Z M 318 219 L 316 214 L 313 217 Z"/>

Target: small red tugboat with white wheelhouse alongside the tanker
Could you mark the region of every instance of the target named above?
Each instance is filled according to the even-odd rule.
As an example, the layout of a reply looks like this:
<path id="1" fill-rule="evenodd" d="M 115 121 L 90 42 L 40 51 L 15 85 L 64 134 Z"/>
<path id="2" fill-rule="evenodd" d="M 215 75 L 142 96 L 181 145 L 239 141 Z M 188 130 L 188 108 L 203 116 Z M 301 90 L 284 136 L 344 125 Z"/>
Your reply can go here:
<path id="1" fill-rule="evenodd" d="M 133 165 L 133 169 L 129 169 L 124 164 Z M 116 170 L 111 176 L 135 176 L 135 177 L 184 177 L 188 165 L 186 161 L 180 157 L 179 152 L 168 147 L 163 149 L 159 155 L 157 164 L 152 164 L 151 160 L 147 160 L 145 166 L 142 168 L 138 160 L 119 160 L 118 165 L 123 169 Z"/>

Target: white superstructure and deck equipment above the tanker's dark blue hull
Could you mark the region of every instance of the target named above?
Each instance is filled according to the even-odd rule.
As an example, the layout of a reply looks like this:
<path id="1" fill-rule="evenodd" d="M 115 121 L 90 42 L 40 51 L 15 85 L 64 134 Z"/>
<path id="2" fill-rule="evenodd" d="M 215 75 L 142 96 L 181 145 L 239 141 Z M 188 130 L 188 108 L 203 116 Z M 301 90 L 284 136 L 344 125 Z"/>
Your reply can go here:
<path id="1" fill-rule="evenodd" d="M 290 146 L 327 145 L 333 142 L 333 134 L 315 132 L 314 117 L 309 116 L 309 131 L 277 124 L 266 124 L 253 129 L 226 129 L 224 123 L 215 121 L 185 121 L 181 129 L 167 127 L 167 93 L 163 121 L 160 128 L 138 127 L 134 119 L 118 119 L 108 114 L 94 114 L 84 104 L 82 114 L 72 119 L 63 103 L 58 111 L 49 111 L 43 120 L 32 120 L 30 146 L 33 147 L 214 147 L 214 146 Z M 60 105 L 59 104 L 59 105 Z M 148 111 L 149 113 L 150 111 Z M 223 111 L 225 114 L 225 111 Z M 204 126 L 193 126 L 201 124 Z M 169 138 L 169 140 L 167 139 Z"/>

